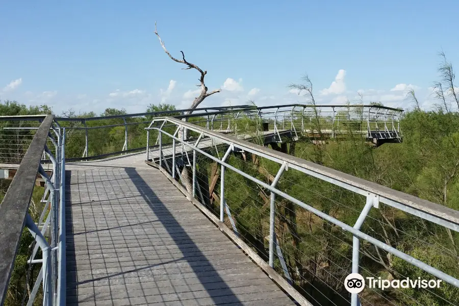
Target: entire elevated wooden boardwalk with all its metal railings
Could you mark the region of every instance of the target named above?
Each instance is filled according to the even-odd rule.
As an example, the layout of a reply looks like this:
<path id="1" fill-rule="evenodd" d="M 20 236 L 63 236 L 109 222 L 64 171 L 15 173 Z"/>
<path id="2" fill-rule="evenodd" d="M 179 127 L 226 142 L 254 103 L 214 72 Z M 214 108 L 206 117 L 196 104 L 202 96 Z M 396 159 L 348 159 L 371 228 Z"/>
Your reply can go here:
<path id="1" fill-rule="evenodd" d="M 392 258 L 455 292 L 457 270 L 396 239 L 412 235 L 445 261 L 457 254 L 383 212 L 452 239 L 459 212 L 291 152 L 300 140 L 400 142 L 400 113 L 289 105 L 2 117 L 0 168 L 14 177 L 0 205 L 0 304 L 402 305 L 400 296 L 422 304 L 401 289 L 345 291 L 351 272 L 377 279 L 387 266 L 404 277 Z M 387 224 L 375 231 L 378 222 Z M 18 302 L 9 289 L 19 256 L 27 279 L 14 281 L 27 291 Z"/>

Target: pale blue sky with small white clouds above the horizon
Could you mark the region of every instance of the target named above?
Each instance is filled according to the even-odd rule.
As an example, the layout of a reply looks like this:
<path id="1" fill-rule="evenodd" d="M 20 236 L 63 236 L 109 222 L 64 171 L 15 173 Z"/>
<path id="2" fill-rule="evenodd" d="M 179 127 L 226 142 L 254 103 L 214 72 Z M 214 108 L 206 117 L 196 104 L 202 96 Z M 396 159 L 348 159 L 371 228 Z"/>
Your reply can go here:
<path id="1" fill-rule="evenodd" d="M 304 102 L 287 88 L 304 73 L 321 104 L 360 90 L 406 108 L 413 87 L 428 105 L 437 52 L 459 65 L 458 11 L 457 1 L 3 1 L 0 97 L 58 114 L 187 107 L 199 73 L 167 57 L 158 21 L 169 52 L 222 88 L 203 105 Z"/>

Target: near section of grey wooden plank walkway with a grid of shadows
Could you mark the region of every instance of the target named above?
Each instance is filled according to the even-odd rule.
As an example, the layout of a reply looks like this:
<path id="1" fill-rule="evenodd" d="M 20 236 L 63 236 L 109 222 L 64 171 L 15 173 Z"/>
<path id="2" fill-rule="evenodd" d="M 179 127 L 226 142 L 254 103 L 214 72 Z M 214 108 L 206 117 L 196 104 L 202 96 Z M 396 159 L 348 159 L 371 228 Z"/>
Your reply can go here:
<path id="1" fill-rule="evenodd" d="M 67 305 L 294 305 L 159 170 L 68 169 Z"/>

